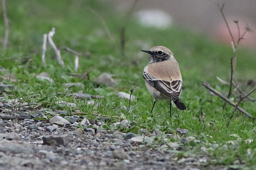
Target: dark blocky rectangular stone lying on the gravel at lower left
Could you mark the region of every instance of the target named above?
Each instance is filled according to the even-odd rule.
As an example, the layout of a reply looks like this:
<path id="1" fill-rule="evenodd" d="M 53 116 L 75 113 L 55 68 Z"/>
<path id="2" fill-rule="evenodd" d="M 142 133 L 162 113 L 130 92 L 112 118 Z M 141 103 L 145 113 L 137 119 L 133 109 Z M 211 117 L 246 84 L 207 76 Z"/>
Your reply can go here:
<path id="1" fill-rule="evenodd" d="M 48 145 L 68 145 L 69 137 L 68 135 L 48 136 L 43 137 L 43 142 Z"/>

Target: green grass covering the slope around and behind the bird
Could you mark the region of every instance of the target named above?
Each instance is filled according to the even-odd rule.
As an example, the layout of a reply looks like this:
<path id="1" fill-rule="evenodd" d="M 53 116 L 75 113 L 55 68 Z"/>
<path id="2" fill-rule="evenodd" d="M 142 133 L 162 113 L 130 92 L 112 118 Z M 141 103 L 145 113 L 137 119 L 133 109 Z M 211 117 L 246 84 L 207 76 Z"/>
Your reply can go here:
<path id="1" fill-rule="evenodd" d="M 100 22 L 99 15 L 90 9 L 97 11 L 106 22 L 114 41 L 111 41 Z M 62 109 L 66 115 L 71 115 L 74 108 L 59 107 L 55 101 L 67 101 L 76 103 L 75 109 L 81 112 L 88 112 L 87 118 L 92 119 L 94 111 L 102 115 L 125 116 L 133 122 L 130 129 L 119 129 L 124 132 L 138 133 L 143 128 L 152 132 L 160 129 L 166 133 L 176 133 L 180 127 L 189 130 L 189 136 L 196 137 L 200 143 L 189 143 L 190 151 L 186 154 L 203 154 L 200 151 L 202 146 L 210 148 L 208 155 L 216 161 L 211 164 L 232 165 L 235 160 L 244 163 L 245 166 L 255 169 L 256 141 L 255 123 L 242 113 L 237 112 L 229 127 L 226 123 L 231 116 L 233 107 L 227 106 L 222 109 L 223 101 L 209 94 L 202 85 L 202 81 L 211 83 L 212 87 L 227 95 L 228 86 L 222 85 L 216 76 L 228 81 L 230 76 L 230 57 L 233 55 L 229 45 L 220 44 L 209 40 L 206 36 L 193 33 L 187 29 L 172 26 L 166 30 L 156 30 L 140 26 L 132 19 L 126 28 L 126 51 L 125 58 L 120 56 L 119 31 L 124 25 L 124 14 L 114 11 L 111 4 L 102 4 L 97 1 L 14 1 L 7 2 L 8 19 L 10 21 L 10 36 L 8 49 L 0 49 L 1 66 L 9 69 L 6 73 L 13 73 L 17 79 L 15 83 L 8 80 L 1 80 L 5 84 L 14 84 L 15 90 L 6 89 L 1 100 L 20 99 L 23 102 L 42 103 L 44 109 Z M 91 70 L 90 80 L 70 78 L 68 73 L 75 73 L 75 55 L 61 51 L 62 59 L 66 65 L 62 68 L 56 60 L 52 48 L 47 45 L 46 63 L 44 68 L 41 62 L 41 51 L 43 34 L 48 33 L 55 27 L 53 41 L 58 47 L 68 47 L 80 53 L 90 51 L 90 58 L 79 57 L 78 73 Z M 0 35 L 4 36 L 4 23 L 1 20 Z M 2 38 L 3 39 L 3 38 Z M 246 41 L 246 40 L 243 40 Z M 142 78 L 143 68 L 150 61 L 148 55 L 140 49 L 149 49 L 156 45 L 170 48 L 180 65 L 183 78 L 182 101 L 186 104 L 187 110 L 180 111 L 175 106 L 172 108 L 172 117 L 169 117 L 169 102 L 166 100 L 157 101 L 153 113 L 150 110 L 153 99 L 148 93 Z M 137 65 L 132 60 L 137 61 Z M 255 51 L 239 48 L 237 51 L 237 65 L 235 76 L 241 82 L 256 77 Z M 24 65 L 19 68 L 19 65 Z M 47 80 L 39 80 L 35 76 L 41 72 L 50 74 L 54 83 Z M 118 81 L 114 88 L 101 86 L 97 87 L 93 80 L 101 73 L 107 72 L 114 75 Z M 2 73 L 2 75 L 5 73 Z M 85 89 L 71 87 L 65 91 L 63 83 L 81 82 Z M 129 106 L 129 100 L 120 99 L 117 92 L 130 93 L 134 88 L 136 101 L 132 101 L 132 108 L 129 113 L 124 109 L 108 109 L 118 106 Z M 242 83 L 242 89 L 249 92 L 252 88 Z M 96 102 L 101 103 L 99 107 L 87 106 L 85 100 L 75 100 L 67 96 L 69 93 L 83 90 L 84 93 L 93 95 L 104 95 L 105 97 Z M 237 98 L 236 93 L 232 95 Z M 255 92 L 252 97 L 256 97 Z M 256 117 L 256 106 L 254 102 L 242 102 L 241 107 Z M 203 107 L 205 122 L 200 123 L 197 115 Z M 49 117 L 52 112 L 49 112 Z M 64 116 L 64 115 L 63 115 Z M 96 119 L 98 119 L 96 117 Z M 106 122 L 108 128 L 115 122 L 111 119 Z M 233 135 L 236 134 L 236 135 Z M 252 139 L 252 143 L 245 143 L 246 139 Z M 172 141 L 173 138 L 170 138 Z M 228 141 L 236 141 L 236 144 L 227 144 Z M 212 144 L 218 144 L 213 148 Z M 223 149 L 223 145 L 226 145 Z M 251 149 L 251 155 L 247 150 Z M 243 167 L 244 168 L 244 167 Z"/>

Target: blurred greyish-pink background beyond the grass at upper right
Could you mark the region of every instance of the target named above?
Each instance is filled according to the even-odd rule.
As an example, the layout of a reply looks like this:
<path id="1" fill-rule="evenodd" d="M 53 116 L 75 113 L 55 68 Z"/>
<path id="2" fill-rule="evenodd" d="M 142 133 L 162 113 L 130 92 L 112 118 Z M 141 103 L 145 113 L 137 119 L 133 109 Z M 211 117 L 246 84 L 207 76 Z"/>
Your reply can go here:
<path id="1" fill-rule="evenodd" d="M 142 22 L 157 27 L 169 25 L 179 25 L 196 32 L 205 33 L 215 40 L 230 43 L 230 35 L 218 9 L 216 2 L 223 3 L 224 14 L 228 20 L 234 38 L 238 38 L 237 26 L 233 22 L 239 21 L 241 33 L 245 27 L 252 31 L 245 34 L 246 41 L 241 41 L 241 45 L 254 47 L 256 44 L 256 1 L 255 0 L 102 0 L 115 4 L 119 12 L 128 12 L 134 3 L 135 15 L 139 15 Z M 147 17 L 148 16 L 148 17 Z M 154 18 L 154 16 L 156 18 Z M 144 17 L 144 18 L 143 18 Z M 158 21 L 157 21 L 158 20 Z M 159 21 L 161 20 L 161 21 Z M 152 24 L 153 22 L 153 24 Z M 147 24 L 147 23 L 144 23 Z M 160 26 L 159 26 L 160 25 Z"/>

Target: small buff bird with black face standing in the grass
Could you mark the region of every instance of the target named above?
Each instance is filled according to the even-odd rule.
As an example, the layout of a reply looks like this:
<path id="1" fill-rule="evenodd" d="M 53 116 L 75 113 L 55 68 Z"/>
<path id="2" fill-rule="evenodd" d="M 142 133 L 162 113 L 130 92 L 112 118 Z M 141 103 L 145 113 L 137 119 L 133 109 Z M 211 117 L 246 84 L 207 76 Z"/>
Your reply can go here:
<path id="1" fill-rule="evenodd" d="M 186 110 L 185 104 L 180 100 L 182 77 L 178 62 L 172 51 L 163 46 L 156 46 L 150 50 L 141 50 L 151 55 L 151 61 L 143 70 L 143 78 L 148 92 L 156 100 L 170 99 L 170 117 L 172 101 L 180 110 Z"/>

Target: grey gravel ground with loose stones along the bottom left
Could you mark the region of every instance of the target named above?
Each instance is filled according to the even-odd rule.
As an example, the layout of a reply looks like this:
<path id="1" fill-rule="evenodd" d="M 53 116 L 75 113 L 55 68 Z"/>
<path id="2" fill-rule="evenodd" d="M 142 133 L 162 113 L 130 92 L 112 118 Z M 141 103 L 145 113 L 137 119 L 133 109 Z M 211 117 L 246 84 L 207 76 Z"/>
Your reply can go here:
<path id="1" fill-rule="evenodd" d="M 177 151 L 190 150 L 182 144 L 189 137 L 175 135 L 181 143 L 165 138 L 151 149 L 154 138 L 161 135 L 159 130 L 147 136 L 125 134 L 103 129 L 104 121 L 77 116 L 69 121 L 60 116 L 35 121 L 33 118 L 45 116 L 45 111 L 23 105 L 15 109 L 15 105 L 0 103 L 0 169 L 228 169 L 211 166 L 209 158 L 202 154 L 179 158 Z M 128 123 L 124 120 L 116 125 Z M 187 131 L 177 129 L 177 133 Z"/>

